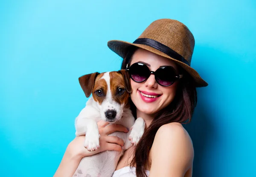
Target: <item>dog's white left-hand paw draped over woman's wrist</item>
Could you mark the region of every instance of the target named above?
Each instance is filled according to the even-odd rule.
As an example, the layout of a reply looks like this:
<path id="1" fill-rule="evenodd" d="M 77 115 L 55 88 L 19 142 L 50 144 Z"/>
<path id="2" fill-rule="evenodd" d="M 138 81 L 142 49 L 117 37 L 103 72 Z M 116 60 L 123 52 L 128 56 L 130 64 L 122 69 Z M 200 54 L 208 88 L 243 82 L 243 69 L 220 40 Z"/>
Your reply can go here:
<path id="1" fill-rule="evenodd" d="M 84 141 L 84 147 L 88 151 L 95 151 L 99 149 L 99 137 L 100 135 L 97 134 L 88 134 L 85 136 L 85 141 Z"/>

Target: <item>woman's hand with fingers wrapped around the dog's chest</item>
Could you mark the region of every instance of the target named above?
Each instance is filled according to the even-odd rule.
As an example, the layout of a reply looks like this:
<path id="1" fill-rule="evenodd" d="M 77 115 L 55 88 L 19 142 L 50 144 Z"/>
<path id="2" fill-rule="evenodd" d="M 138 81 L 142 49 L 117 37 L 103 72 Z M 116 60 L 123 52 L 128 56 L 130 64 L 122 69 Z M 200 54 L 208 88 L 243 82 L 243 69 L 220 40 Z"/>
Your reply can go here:
<path id="1" fill-rule="evenodd" d="M 76 137 L 74 140 L 70 142 L 70 144 L 67 147 L 67 151 L 70 152 L 70 154 L 73 157 L 86 157 L 90 155 L 97 154 L 99 152 L 103 152 L 106 150 L 115 150 L 115 151 L 122 151 L 122 146 L 124 146 L 124 142 L 121 138 L 118 138 L 116 136 L 108 136 L 109 134 L 113 132 L 128 132 L 128 129 L 125 126 L 119 125 L 119 124 L 111 124 L 107 126 L 109 123 L 105 121 L 99 121 L 98 122 L 98 129 L 99 129 L 99 149 L 95 151 L 88 151 L 84 147 L 84 140 L 85 136 L 79 136 Z"/>

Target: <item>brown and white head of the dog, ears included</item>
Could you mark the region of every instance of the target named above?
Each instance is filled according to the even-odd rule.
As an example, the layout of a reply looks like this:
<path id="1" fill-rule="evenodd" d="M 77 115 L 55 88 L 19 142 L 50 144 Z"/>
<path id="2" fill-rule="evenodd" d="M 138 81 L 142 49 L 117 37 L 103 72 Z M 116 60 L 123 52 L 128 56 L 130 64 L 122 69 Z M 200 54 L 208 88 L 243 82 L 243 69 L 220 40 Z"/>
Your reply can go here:
<path id="1" fill-rule="evenodd" d="M 92 93 L 103 121 L 121 119 L 131 93 L 129 75 L 125 70 L 87 74 L 81 76 L 79 82 L 86 97 Z"/>

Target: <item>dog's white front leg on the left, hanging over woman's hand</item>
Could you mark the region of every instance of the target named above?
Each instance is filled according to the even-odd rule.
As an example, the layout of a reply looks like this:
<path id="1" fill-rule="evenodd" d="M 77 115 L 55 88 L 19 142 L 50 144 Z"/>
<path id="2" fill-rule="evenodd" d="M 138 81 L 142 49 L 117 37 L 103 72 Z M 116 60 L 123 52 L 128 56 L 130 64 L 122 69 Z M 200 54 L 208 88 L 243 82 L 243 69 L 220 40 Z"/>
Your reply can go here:
<path id="1" fill-rule="evenodd" d="M 85 135 L 84 147 L 88 151 L 99 148 L 99 129 L 97 122 L 90 118 L 78 118 L 76 121 L 76 136 Z"/>

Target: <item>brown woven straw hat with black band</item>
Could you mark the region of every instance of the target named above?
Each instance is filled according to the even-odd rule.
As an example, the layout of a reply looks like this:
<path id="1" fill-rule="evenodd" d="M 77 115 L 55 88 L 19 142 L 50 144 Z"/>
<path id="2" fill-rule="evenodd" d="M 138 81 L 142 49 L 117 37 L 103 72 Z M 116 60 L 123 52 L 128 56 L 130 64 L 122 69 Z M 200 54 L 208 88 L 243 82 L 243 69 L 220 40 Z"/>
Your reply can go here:
<path id="1" fill-rule="evenodd" d="M 183 23 L 172 19 L 160 19 L 152 22 L 133 43 L 108 41 L 108 47 L 122 58 L 126 56 L 131 45 L 172 59 L 194 78 L 196 87 L 208 85 L 198 72 L 190 67 L 195 39 Z"/>

